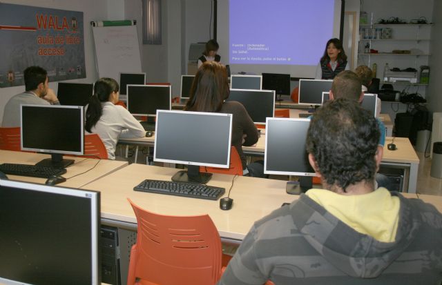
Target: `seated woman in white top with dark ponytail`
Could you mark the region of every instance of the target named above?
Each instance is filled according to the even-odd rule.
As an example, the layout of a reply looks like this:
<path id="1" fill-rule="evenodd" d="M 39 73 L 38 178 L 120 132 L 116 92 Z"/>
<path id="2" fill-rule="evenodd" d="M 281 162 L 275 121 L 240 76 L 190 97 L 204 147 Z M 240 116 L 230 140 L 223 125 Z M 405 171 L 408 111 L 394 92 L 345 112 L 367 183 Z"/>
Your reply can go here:
<path id="1" fill-rule="evenodd" d="M 118 138 L 144 137 L 146 131 L 133 115 L 118 101 L 119 86 L 112 78 L 100 78 L 94 85 L 94 95 L 86 106 L 86 126 L 102 139 L 109 159 L 115 159 Z"/>

